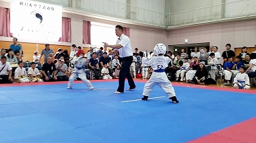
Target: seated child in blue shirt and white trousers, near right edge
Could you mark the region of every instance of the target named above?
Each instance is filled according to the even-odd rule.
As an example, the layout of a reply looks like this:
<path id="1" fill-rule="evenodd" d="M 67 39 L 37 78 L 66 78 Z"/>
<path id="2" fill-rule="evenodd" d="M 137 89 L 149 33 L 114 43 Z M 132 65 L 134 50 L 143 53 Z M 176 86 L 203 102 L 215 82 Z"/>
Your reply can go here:
<path id="1" fill-rule="evenodd" d="M 231 79 L 232 75 L 236 75 L 237 73 L 239 73 L 238 70 L 234 70 L 235 65 L 232 61 L 233 61 L 233 58 L 228 57 L 228 61 L 224 63 L 223 73 L 225 74 L 224 79 L 226 80 L 226 83 L 224 83 L 224 85 L 231 85 L 230 84 L 230 79 Z"/>

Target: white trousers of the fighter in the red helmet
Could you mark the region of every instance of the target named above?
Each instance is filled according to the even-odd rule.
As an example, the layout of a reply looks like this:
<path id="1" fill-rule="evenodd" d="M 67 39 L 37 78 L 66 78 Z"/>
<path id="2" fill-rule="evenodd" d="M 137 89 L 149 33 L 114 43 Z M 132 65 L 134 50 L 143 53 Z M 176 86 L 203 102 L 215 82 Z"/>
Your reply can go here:
<path id="1" fill-rule="evenodd" d="M 73 81 L 75 81 L 76 77 L 79 77 L 82 81 L 84 81 L 84 84 L 86 86 L 90 87 L 90 89 L 93 89 L 92 83 L 86 78 L 86 71 L 84 69 L 78 70 L 76 72 L 73 72 L 71 76 L 69 77 L 69 83 L 67 84 L 68 87 L 73 86 Z"/>

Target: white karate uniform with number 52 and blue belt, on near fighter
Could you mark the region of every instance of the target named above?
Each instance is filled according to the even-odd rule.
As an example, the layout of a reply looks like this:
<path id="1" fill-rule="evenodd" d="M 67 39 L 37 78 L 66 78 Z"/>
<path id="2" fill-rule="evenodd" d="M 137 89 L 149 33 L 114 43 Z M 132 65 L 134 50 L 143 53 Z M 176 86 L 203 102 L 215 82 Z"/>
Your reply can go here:
<path id="1" fill-rule="evenodd" d="M 152 56 L 151 58 L 143 58 L 142 64 L 146 64 L 148 66 L 152 66 L 154 72 L 152 73 L 150 79 L 145 84 L 143 89 L 143 95 L 149 96 L 150 91 L 154 88 L 155 85 L 158 85 L 168 97 L 174 97 L 175 92 L 174 88 L 172 87 L 172 83 L 168 80 L 166 73 L 164 72 L 164 68 L 168 66 L 170 62 L 170 58 L 167 56 Z"/>

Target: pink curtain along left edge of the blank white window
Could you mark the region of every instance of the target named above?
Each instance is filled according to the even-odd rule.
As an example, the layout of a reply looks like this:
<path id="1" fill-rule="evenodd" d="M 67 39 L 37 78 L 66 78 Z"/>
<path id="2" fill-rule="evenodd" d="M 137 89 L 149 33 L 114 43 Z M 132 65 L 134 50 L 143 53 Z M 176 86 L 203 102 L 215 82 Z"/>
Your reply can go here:
<path id="1" fill-rule="evenodd" d="M 83 21 L 83 43 L 91 44 L 91 23 Z"/>

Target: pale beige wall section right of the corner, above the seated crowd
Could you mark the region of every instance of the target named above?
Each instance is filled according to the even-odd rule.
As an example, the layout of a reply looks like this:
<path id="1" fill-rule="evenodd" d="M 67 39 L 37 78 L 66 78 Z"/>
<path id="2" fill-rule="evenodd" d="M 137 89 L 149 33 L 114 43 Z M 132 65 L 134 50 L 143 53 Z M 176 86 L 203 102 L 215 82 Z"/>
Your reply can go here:
<path id="1" fill-rule="evenodd" d="M 168 45 L 185 44 L 185 39 L 189 40 L 188 44 L 210 42 L 210 45 L 218 46 L 221 53 L 226 49 L 227 43 L 231 44 L 232 50 L 243 46 L 254 47 L 256 20 L 212 23 L 168 32 Z"/>

